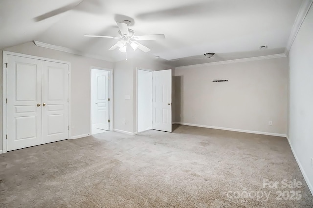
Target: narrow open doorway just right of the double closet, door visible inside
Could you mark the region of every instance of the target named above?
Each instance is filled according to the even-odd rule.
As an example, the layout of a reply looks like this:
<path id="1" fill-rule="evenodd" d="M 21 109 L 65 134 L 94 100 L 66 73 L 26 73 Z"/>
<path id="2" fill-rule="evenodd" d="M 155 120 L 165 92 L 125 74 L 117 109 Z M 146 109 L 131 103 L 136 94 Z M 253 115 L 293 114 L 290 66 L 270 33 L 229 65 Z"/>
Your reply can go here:
<path id="1" fill-rule="evenodd" d="M 91 68 L 91 134 L 110 130 L 110 71 Z"/>

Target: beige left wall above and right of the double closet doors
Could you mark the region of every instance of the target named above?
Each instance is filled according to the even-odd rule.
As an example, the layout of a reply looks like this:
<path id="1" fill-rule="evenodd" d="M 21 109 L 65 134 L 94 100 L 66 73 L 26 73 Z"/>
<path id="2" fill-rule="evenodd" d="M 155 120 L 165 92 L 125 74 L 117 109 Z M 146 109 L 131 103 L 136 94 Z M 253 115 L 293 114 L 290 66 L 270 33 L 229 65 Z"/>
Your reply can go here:
<path id="1" fill-rule="evenodd" d="M 32 42 L 3 49 L 5 51 L 71 62 L 72 137 L 91 133 L 90 129 L 90 66 L 113 69 L 113 63 L 74 55 L 43 47 Z M 1 68 L 2 69 L 2 68 Z M 1 71 L 2 74 L 2 71 Z M 2 79 L 1 79 L 2 82 Z M 1 84 L 2 85 L 2 84 Z M 1 91 L 2 92 L 2 91 Z M 2 96 L 1 96 L 2 98 Z M 1 101 L 2 102 L 2 101 Z M 2 130 L 2 127 L 1 127 Z M 2 135 L 2 134 L 1 134 Z M 1 141 L 2 144 L 2 141 Z M 1 148 L 2 149 L 2 148 Z"/>

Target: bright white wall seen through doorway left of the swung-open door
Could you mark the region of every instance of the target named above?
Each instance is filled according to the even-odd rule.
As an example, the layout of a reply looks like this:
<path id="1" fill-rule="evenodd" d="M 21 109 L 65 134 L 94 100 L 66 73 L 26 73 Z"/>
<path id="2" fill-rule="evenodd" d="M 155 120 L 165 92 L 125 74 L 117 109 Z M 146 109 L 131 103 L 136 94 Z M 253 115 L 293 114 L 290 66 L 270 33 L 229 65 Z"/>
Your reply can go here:
<path id="1" fill-rule="evenodd" d="M 152 129 L 152 72 L 138 70 L 138 132 Z"/>

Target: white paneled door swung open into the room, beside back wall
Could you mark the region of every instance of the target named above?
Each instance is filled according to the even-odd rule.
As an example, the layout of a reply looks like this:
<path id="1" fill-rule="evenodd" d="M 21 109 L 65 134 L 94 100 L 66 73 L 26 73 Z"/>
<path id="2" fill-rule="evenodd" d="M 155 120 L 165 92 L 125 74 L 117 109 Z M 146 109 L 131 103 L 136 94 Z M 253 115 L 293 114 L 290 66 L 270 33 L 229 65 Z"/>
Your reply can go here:
<path id="1" fill-rule="evenodd" d="M 152 73 L 152 128 L 172 132 L 172 70 Z"/>

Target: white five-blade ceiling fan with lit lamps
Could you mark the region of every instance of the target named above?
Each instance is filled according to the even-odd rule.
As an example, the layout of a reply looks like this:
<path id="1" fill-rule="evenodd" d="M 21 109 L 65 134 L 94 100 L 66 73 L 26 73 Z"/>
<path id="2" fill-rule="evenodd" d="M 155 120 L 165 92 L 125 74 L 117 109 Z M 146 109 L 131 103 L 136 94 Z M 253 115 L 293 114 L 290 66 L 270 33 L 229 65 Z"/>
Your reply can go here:
<path id="1" fill-rule="evenodd" d="M 159 40 L 159 39 L 165 39 L 165 35 L 158 34 L 158 35 L 137 35 L 135 36 L 134 30 L 129 29 L 128 27 L 131 25 L 131 21 L 124 20 L 121 22 L 116 22 L 117 26 L 119 28 L 119 35 L 120 37 L 113 37 L 113 36 L 104 36 L 104 35 L 85 35 L 85 37 L 96 37 L 96 38 L 112 38 L 117 39 L 117 43 L 109 48 L 109 50 L 115 50 L 116 48 L 119 48 L 119 51 L 126 53 L 127 44 L 129 44 L 133 50 L 140 49 L 143 52 L 149 52 L 150 49 L 142 44 L 140 44 L 137 41 L 141 40 Z"/>

